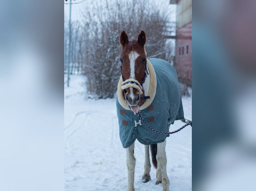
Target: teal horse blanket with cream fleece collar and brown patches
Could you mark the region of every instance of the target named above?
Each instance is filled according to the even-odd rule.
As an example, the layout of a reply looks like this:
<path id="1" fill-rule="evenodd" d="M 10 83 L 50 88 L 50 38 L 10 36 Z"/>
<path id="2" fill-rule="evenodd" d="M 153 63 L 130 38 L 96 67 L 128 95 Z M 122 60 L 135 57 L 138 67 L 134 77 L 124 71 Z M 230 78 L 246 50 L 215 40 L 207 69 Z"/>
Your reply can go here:
<path id="1" fill-rule="evenodd" d="M 150 73 L 150 99 L 140 106 L 141 114 L 150 127 L 168 132 L 170 124 L 184 118 L 177 74 L 170 63 L 161 59 L 147 59 L 147 67 Z M 169 135 L 161 135 L 148 129 L 125 103 L 122 82 L 121 76 L 116 107 L 119 136 L 123 147 L 130 147 L 136 139 L 145 145 L 163 142 Z"/>

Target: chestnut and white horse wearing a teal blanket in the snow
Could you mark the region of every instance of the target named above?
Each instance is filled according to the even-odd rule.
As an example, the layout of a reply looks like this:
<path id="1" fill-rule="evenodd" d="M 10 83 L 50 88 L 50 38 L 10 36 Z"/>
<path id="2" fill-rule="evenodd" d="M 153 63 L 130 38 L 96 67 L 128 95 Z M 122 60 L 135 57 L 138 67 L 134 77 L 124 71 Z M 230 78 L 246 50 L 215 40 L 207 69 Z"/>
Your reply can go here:
<path id="1" fill-rule="evenodd" d="M 121 76 L 117 88 L 117 115 L 119 136 L 126 148 L 128 170 L 127 191 L 134 191 L 134 141 L 145 145 L 143 182 L 150 177 L 149 145 L 152 163 L 156 168 L 156 182 L 162 183 L 163 191 L 169 190 L 170 181 L 166 172 L 166 137 L 150 131 L 138 117 L 140 111 L 144 120 L 155 130 L 168 132 L 170 124 L 183 119 L 183 107 L 177 74 L 172 65 L 164 60 L 146 58 L 146 34 L 142 30 L 137 39 L 129 41 L 122 31 Z"/>

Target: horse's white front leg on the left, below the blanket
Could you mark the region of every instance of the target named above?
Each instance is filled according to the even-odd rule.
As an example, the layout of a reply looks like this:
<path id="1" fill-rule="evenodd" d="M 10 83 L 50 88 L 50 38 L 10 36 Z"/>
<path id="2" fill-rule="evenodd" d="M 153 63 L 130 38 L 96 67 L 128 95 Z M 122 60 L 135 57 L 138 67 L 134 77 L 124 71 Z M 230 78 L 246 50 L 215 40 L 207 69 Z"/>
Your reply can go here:
<path id="1" fill-rule="evenodd" d="M 126 149 L 126 165 L 128 170 L 127 191 L 134 191 L 134 169 L 136 159 L 134 158 L 134 143 Z"/>

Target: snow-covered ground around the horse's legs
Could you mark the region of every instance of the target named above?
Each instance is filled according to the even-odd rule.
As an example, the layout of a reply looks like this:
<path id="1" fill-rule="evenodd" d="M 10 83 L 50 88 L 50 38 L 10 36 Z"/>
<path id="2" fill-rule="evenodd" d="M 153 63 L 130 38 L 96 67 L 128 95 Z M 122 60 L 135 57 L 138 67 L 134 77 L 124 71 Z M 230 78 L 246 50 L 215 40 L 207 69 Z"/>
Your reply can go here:
<path id="1" fill-rule="evenodd" d="M 123 191 L 127 188 L 126 151 L 119 139 L 114 99 L 88 99 L 85 78 L 72 75 L 70 87 L 64 89 L 65 191 Z M 66 79 L 65 79 L 66 82 Z M 182 98 L 184 114 L 192 119 L 191 97 Z M 175 121 L 170 131 L 184 125 Z M 187 126 L 167 137 L 167 174 L 170 191 L 192 189 L 192 128 Z M 142 182 L 144 145 L 135 141 L 134 186 L 137 191 L 160 191 L 155 185 L 156 172 L 151 167 L 151 180 Z"/>

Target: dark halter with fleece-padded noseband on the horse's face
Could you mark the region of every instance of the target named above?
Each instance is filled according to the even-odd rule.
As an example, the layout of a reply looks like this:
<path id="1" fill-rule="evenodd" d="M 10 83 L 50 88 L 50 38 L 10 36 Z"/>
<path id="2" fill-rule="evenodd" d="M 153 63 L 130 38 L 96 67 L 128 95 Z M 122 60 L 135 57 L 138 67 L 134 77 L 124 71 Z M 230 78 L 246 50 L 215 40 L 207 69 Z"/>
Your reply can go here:
<path id="1" fill-rule="evenodd" d="M 125 90 L 126 88 L 132 87 L 132 88 L 136 88 L 139 91 L 139 94 L 142 94 L 142 84 L 144 84 L 146 78 L 147 78 L 147 74 L 149 75 L 148 71 L 147 71 L 147 60 L 145 60 L 145 73 L 144 73 L 144 77 L 142 79 L 142 84 L 140 84 L 137 80 L 134 79 L 127 79 L 124 80 L 124 76 L 123 76 L 123 72 L 122 72 L 122 65 L 120 66 L 121 69 L 121 75 L 122 75 L 122 79 L 123 79 L 123 83 L 122 83 L 122 87 L 121 89 L 123 90 L 123 92 L 126 94 L 127 91 Z M 140 99 L 150 99 L 150 96 L 142 96 L 140 97 Z"/>

